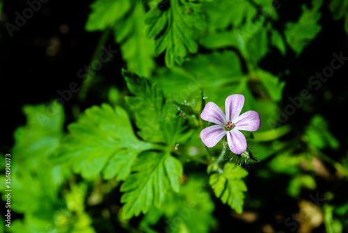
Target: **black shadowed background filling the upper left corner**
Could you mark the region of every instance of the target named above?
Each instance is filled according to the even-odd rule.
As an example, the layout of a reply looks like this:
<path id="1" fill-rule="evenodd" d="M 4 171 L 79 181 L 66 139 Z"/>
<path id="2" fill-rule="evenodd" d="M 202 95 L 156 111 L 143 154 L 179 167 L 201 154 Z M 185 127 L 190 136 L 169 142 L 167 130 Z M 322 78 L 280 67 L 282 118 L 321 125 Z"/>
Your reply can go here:
<path id="1" fill-rule="evenodd" d="M 15 24 L 17 11 L 22 15 L 26 1 L 5 1 L 1 17 L 0 75 L 1 149 L 13 145 L 13 131 L 25 124 L 24 104 L 40 104 L 60 97 L 58 90 L 82 81 L 77 72 L 89 65 L 101 33 L 84 30 L 92 1 L 48 1 L 10 38 L 5 23 Z M 112 42 L 113 36 L 109 40 Z M 113 45 L 117 48 L 117 45 Z M 120 53 L 111 63 L 122 63 Z M 118 66 L 118 65 L 117 65 Z M 65 111 L 77 102 L 77 94 L 65 102 Z M 100 104 L 99 102 L 95 104 Z"/>

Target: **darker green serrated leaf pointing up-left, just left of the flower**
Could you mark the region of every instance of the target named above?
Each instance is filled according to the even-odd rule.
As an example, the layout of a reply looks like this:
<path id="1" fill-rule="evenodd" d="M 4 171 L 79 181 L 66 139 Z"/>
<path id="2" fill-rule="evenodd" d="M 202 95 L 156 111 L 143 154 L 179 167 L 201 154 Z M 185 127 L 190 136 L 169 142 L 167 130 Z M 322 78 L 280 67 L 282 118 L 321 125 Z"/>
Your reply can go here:
<path id="1" fill-rule="evenodd" d="M 135 97 L 125 100 L 132 109 L 139 136 L 155 143 L 184 143 L 191 136 L 187 121 L 177 116 L 177 106 L 166 102 L 163 92 L 144 77 L 123 70 L 128 89 Z"/>

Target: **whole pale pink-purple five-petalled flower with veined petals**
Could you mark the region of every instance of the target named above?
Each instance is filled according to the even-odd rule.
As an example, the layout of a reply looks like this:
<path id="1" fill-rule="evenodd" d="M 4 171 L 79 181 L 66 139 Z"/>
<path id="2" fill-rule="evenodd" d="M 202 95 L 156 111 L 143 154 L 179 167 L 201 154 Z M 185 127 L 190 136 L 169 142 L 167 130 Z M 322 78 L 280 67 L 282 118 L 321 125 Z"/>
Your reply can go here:
<path id="1" fill-rule="evenodd" d="M 226 115 L 214 104 L 205 105 L 200 118 L 215 123 L 200 132 L 200 138 L 207 147 L 214 147 L 223 136 L 227 136 L 228 147 L 235 154 L 246 151 L 246 138 L 239 130 L 256 131 L 260 129 L 260 115 L 255 111 L 247 111 L 239 115 L 243 109 L 244 95 L 230 95 L 225 102 Z"/>

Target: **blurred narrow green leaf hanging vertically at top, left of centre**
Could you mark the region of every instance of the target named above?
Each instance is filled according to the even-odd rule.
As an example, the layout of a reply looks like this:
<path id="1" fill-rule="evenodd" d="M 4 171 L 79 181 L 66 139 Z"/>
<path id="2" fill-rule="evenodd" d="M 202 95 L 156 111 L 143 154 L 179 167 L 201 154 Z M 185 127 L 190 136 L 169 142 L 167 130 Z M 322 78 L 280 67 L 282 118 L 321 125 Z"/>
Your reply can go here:
<path id="1" fill-rule="evenodd" d="M 148 77 L 155 67 L 155 44 L 146 38 L 144 17 L 143 4 L 137 1 L 132 12 L 116 23 L 115 38 L 128 70 Z"/>

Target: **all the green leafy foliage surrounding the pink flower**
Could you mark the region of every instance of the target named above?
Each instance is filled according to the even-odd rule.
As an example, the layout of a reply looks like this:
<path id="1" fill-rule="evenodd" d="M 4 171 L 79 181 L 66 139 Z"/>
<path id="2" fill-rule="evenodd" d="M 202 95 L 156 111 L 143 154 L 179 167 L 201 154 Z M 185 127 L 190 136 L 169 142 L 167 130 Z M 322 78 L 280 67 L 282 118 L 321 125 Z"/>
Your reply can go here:
<path id="1" fill-rule="evenodd" d="M 335 188 L 336 182 L 347 186 L 342 140 L 327 114 L 296 108 L 301 122 L 295 124 L 283 105 L 288 74 L 297 69 L 293 63 L 323 30 L 323 8 L 345 21 L 342 31 L 348 33 L 348 4 L 299 3 L 294 17 L 280 15 L 281 4 L 91 3 L 85 29 L 101 31 L 95 54 L 113 32 L 125 65 L 103 67 L 113 77 L 111 86 L 97 72 L 88 77 L 106 88 L 81 87 L 81 93 L 100 95 L 93 99 L 99 106 L 81 97 L 69 111 L 57 101 L 24 106 L 26 124 L 14 132 L 11 151 L 11 211 L 17 219 L 6 230 L 225 232 L 226 225 L 250 223 L 251 232 L 294 232 L 287 228 L 290 216 L 299 232 L 347 230 L 347 191 Z M 276 60 L 286 65 L 271 64 Z M 262 120 L 258 131 L 243 132 L 248 156 L 226 152 L 223 142 L 207 148 L 199 136 L 210 125 L 200 118 L 205 104 L 224 109 L 235 93 L 246 99 L 243 112 L 257 111 Z M 318 193 L 324 204 L 310 198 Z M 291 207 L 267 209 L 279 202 Z M 302 211 L 315 204 L 314 223 Z"/>

